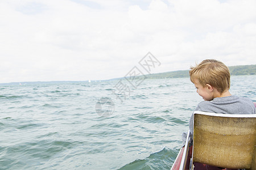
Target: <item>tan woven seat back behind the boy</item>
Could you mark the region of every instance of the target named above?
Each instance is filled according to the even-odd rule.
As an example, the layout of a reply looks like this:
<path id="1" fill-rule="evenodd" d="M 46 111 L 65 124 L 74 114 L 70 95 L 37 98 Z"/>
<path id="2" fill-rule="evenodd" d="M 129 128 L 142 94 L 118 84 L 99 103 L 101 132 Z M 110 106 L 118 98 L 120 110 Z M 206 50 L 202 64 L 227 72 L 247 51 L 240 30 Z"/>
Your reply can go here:
<path id="1" fill-rule="evenodd" d="M 256 117 L 229 115 L 194 113 L 193 162 L 235 169 L 255 167 Z"/>

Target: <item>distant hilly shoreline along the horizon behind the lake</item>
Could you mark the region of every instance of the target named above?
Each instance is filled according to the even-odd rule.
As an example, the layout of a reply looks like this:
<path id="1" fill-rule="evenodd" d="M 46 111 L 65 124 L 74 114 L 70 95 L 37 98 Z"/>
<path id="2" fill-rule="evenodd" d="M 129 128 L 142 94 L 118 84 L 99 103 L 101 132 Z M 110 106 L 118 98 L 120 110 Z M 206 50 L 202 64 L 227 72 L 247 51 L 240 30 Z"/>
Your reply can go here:
<path id="1" fill-rule="evenodd" d="M 229 66 L 230 75 L 256 75 L 256 65 L 243 65 L 243 66 Z M 164 78 L 185 78 L 189 77 L 189 70 L 177 70 L 168 71 L 164 73 L 147 74 L 146 79 L 164 79 Z M 122 78 L 113 78 L 108 80 L 91 80 L 91 82 L 109 81 L 117 80 Z M 11 83 L 0 83 L 0 86 L 8 85 L 24 85 L 24 84 L 43 84 L 43 83 L 82 83 L 88 82 L 88 80 L 83 81 L 37 81 L 37 82 L 11 82 Z"/>

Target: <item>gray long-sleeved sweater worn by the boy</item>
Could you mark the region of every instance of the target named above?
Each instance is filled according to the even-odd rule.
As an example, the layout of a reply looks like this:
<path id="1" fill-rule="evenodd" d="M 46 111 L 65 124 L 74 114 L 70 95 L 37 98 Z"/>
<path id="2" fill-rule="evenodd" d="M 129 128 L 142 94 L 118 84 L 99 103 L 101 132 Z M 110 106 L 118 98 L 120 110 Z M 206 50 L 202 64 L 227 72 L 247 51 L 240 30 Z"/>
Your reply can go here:
<path id="1" fill-rule="evenodd" d="M 195 111 L 223 114 L 256 114 L 256 109 L 249 98 L 239 96 L 216 97 L 211 101 L 202 101 Z M 193 139 L 193 114 L 189 120 L 189 129 Z M 183 143 L 187 135 L 183 134 Z"/>

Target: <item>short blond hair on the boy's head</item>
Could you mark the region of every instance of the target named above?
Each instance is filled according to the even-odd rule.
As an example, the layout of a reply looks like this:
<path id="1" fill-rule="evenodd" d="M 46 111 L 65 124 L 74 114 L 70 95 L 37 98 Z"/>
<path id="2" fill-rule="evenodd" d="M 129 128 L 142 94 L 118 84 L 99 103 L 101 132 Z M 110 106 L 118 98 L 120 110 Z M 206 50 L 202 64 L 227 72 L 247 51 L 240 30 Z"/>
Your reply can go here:
<path id="1" fill-rule="evenodd" d="M 199 65 L 190 67 L 189 76 L 192 83 L 195 79 L 205 87 L 210 84 L 217 89 L 218 92 L 229 90 L 230 88 L 230 72 L 224 63 L 216 59 L 205 59 Z"/>

